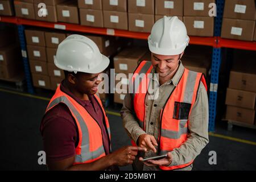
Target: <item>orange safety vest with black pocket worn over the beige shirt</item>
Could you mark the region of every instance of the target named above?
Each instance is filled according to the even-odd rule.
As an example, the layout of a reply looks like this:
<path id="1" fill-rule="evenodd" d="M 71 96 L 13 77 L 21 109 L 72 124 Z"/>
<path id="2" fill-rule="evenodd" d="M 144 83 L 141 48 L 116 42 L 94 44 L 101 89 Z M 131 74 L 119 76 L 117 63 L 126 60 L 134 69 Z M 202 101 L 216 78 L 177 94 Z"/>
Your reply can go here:
<path id="1" fill-rule="evenodd" d="M 135 115 L 139 126 L 145 130 L 145 100 L 150 82 L 148 73 L 152 70 L 151 61 L 142 61 L 134 72 L 131 83 L 133 84 L 133 104 Z M 144 73 L 144 75 L 142 74 Z M 142 74 L 142 76 L 141 76 Z M 138 79 L 140 77 L 140 79 Z M 161 109 L 160 113 L 160 132 L 159 132 L 159 150 L 160 154 L 166 154 L 168 151 L 179 148 L 188 138 L 188 123 L 189 115 L 193 105 L 195 104 L 197 91 L 199 90 L 200 82 L 203 82 L 205 89 L 207 84 L 203 73 L 197 73 L 184 69 L 179 83 L 174 88 L 166 104 Z M 146 89 L 146 92 L 145 92 Z M 135 146 L 135 142 L 132 141 Z M 188 162 L 179 166 L 165 167 L 160 166 L 162 170 L 173 170 L 187 167 L 193 163 Z"/>

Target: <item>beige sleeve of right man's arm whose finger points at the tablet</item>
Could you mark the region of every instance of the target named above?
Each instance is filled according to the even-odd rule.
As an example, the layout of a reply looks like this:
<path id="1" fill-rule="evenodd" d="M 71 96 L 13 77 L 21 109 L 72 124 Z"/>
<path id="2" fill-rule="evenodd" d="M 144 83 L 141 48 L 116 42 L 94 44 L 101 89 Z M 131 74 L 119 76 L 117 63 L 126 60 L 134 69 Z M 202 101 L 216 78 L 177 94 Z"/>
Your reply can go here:
<path id="1" fill-rule="evenodd" d="M 126 94 L 125 99 L 123 100 L 121 117 L 123 119 L 123 127 L 125 127 L 127 134 L 135 142 L 137 142 L 139 135 L 146 134 L 146 132 L 139 126 L 137 119 L 134 117 L 133 104 L 129 93 Z"/>

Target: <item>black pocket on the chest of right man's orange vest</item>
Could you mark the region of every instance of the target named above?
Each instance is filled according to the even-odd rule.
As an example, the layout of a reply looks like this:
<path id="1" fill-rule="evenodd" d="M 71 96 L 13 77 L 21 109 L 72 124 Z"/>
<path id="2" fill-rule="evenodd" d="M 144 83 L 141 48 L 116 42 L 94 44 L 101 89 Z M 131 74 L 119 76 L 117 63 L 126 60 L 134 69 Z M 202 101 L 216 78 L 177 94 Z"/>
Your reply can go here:
<path id="1" fill-rule="evenodd" d="M 185 102 L 174 102 L 174 119 L 188 119 L 191 104 Z"/>

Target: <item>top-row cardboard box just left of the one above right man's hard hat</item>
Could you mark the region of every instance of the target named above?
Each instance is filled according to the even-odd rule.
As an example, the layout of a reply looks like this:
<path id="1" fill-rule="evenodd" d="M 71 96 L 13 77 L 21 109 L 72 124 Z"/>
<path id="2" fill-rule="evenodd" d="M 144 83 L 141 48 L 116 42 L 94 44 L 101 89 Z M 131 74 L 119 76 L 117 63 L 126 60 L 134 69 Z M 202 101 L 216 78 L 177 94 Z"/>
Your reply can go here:
<path id="1" fill-rule="evenodd" d="M 154 15 L 155 1 L 154 0 L 129 0 L 128 12 Z"/>

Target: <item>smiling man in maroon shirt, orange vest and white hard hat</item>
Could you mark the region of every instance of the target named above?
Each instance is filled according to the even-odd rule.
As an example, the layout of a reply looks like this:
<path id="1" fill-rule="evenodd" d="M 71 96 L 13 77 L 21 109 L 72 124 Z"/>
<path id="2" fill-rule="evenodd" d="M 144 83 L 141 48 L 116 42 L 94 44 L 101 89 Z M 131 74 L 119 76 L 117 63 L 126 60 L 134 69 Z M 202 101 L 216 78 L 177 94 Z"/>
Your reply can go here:
<path id="1" fill-rule="evenodd" d="M 108 118 L 97 95 L 99 75 L 109 65 L 96 44 L 68 36 L 57 49 L 56 67 L 65 79 L 42 119 L 41 133 L 50 170 L 113 170 L 133 163 L 138 151 L 126 146 L 112 153 Z"/>

